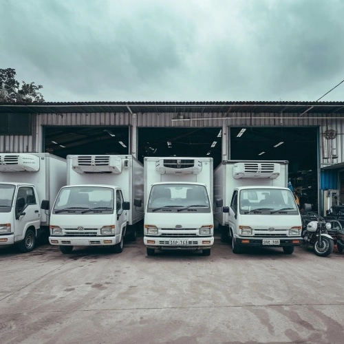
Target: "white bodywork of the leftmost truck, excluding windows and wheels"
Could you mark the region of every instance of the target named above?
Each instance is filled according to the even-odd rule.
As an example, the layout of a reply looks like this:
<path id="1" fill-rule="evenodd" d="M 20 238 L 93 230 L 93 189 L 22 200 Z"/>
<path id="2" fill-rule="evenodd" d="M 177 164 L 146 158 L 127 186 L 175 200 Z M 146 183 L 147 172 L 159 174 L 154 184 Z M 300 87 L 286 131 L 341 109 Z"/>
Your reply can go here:
<path id="1" fill-rule="evenodd" d="M 29 227 L 35 228 L 36 235 L 39 229 L 48 231 L 48 211 L 41 209 L 41 202 L 49 200 L 52 207 L 58 191 L 66 184 L 66 172 L 66 160 L 49 153 L 0 153 L 0 184 L 15 187 L 10 212 L 0 212 L 0 224 L 11 224 L 12 233 L 1 235 L 0 244 L 23 240 Z M 16 219 L 17 193 L 25 187 L 33 189 L 36 203 L 28 202 L 25 215 Z"/>

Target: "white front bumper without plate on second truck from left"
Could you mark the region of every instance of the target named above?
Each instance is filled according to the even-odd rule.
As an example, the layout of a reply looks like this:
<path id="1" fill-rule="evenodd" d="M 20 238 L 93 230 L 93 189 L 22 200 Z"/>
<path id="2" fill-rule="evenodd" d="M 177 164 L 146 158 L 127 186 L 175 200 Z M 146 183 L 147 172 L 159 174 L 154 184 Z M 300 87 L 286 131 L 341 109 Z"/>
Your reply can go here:
<path id="1" fill-rule="evenodd" d="M 111 237 L 49 237 L 51 245 L 58 246 L 114 246 L 120 242 L 120 235 Z"/>

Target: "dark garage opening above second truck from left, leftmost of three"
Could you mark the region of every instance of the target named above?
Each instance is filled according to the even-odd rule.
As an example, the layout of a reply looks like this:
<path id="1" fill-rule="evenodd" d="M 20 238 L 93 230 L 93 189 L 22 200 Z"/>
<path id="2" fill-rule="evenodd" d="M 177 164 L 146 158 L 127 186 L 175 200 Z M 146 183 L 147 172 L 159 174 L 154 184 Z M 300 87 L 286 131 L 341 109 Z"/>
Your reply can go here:
<path id="1" fill-rule="evenodd" d="M 44 127 L 44 150 L 68 154 L 128 154 L 129 127 Z"/>

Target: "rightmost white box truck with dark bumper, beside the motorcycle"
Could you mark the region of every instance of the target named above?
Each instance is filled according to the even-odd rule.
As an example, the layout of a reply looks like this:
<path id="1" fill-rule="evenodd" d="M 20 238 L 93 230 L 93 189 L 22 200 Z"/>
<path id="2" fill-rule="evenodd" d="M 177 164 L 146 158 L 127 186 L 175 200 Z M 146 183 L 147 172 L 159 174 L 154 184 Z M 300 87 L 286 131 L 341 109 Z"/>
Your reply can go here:
<path id="1" fill-rule="evenodd" d="M 288 161 L 223 161 L 214 171 L 215 213 L 221 239 L 234 253 L 244 246 L 275 246 L 292 254 L 300 246 L 301 215 L 288 185 Z"/>

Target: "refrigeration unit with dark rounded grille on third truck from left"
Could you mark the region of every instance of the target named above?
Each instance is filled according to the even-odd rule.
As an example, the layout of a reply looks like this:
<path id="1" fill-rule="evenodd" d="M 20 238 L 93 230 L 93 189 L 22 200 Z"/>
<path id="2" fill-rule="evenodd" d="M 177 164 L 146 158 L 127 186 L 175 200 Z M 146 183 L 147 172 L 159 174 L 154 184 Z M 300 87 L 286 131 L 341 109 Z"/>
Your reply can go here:
<path id="1" fill-rule="evenodd" d="M 197 158 L 159 158 L 155 169 L 160 174 L 198 174 L 202 171 L 202 161 Z"/>

